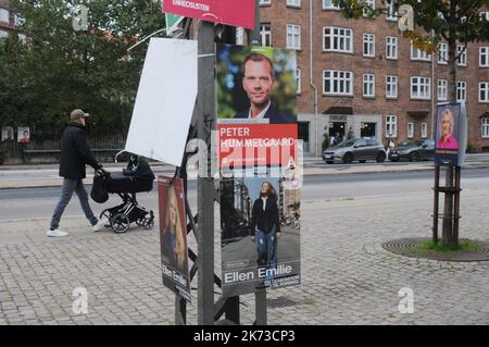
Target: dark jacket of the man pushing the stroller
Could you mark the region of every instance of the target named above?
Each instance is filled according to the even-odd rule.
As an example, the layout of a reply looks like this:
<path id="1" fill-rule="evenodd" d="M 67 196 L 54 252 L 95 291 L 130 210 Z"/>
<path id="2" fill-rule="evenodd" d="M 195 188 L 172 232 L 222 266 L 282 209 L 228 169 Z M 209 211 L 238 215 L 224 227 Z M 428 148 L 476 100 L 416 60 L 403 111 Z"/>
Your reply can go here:
<path id="1" fill-rule="evenodd" d="M 85 178 L 87 175 L 85 164 L 93 169 L 101 168 L 88 146 L 85 126 L 71 122 L 61 138 L 60 176 L 72 179 Z"/>

